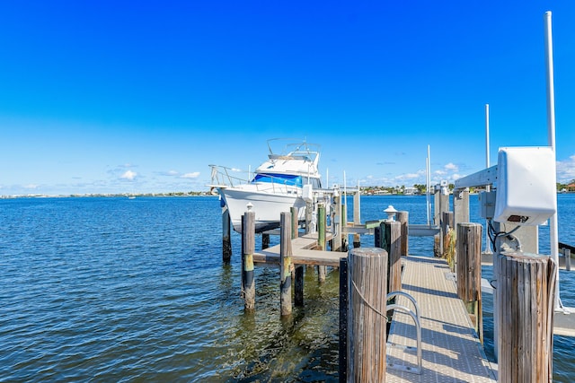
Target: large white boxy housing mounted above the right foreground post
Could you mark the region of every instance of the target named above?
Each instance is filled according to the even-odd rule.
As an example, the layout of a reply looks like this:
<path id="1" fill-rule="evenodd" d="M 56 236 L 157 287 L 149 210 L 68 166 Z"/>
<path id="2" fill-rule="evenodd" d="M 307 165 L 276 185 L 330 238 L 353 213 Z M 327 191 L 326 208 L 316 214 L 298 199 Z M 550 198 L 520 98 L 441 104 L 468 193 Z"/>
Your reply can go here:
<path id="1" fill-rule="evenodd" d="M 535 226 L 557 211 L 555 154 L 548 146 L 500 148 L 493 220 Z"/>

